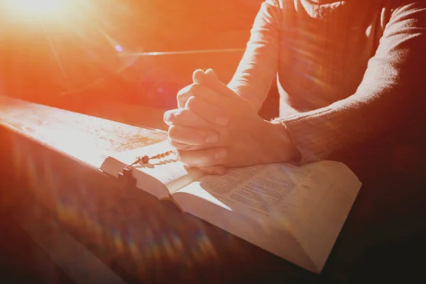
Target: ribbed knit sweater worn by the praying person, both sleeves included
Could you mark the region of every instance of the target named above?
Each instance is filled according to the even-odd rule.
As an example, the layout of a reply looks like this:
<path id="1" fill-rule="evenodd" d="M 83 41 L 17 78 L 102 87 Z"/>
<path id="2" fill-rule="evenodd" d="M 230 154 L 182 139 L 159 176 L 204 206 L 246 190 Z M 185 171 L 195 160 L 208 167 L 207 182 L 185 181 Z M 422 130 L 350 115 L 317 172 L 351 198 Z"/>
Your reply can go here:
<path id="1" fill-rule="evenodd" d="M 307 163 L 412 123 L 425 68 L 426 1 L 266 0 L 229 87 L 258 109 L 278 76 Z"/>

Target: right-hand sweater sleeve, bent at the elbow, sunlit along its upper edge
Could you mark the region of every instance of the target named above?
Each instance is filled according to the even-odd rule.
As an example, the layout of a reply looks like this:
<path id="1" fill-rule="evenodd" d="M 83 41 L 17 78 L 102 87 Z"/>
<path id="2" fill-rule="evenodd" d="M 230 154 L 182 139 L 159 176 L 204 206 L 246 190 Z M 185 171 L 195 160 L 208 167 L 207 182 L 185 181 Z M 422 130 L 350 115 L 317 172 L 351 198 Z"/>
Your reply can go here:
<path id="1" fill-rule="evenodd" d="M 279 119 L 300 151 L 300 163 L 328 158 L 349 145 L 417 122 L 416 114 L 426 107 L 425 3 L 393 11 L 354 94 L 328 107 Z"/>

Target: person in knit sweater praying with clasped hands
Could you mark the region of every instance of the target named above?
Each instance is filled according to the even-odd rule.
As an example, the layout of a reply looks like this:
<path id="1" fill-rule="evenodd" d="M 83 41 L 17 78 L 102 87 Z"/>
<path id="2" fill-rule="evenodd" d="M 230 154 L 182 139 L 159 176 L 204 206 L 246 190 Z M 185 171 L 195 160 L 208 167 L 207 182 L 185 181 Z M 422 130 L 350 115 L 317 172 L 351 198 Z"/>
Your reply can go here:
<path id="1" fill-rule="evenodd" d="M 383 148 L 390 158 L 387 143 L 424 119 L 425 52 L 426 1 L 266 0 L 231 82 L 196 70 L 165 112 L 170 144 L 218 175 Z M 258 110 L 275 77 L 280 115 L 266 121 Z"/>

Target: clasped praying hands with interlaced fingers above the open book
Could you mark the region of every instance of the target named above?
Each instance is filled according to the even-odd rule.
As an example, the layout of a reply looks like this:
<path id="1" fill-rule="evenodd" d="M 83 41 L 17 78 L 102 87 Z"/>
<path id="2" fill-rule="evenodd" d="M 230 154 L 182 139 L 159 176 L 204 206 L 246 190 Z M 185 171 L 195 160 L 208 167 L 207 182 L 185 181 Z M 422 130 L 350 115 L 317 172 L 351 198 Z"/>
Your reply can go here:
<path id="1" fill-rule="evenodd" d="M 178 93 L 178 109 L 164 114 L 169 143 L 183 163 L 222 175 L 226 167 L 292 158 L 285 127 L 263 120 L 213 70 L 196 70 L 193 81 Z"/>

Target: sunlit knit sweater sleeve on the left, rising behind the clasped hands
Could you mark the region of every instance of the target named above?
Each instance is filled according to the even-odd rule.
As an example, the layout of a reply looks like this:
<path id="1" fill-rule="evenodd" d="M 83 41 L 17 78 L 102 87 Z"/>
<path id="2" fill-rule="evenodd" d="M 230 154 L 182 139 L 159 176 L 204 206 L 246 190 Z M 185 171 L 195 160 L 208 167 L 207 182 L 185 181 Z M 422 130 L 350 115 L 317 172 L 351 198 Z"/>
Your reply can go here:
<path id="1" fill-rule="evenodd" d="M 278 0 L 263 2 L 251 28 L 246 51 L 228 84 L 251 102 L 256 111 L 261 108 L 277 74 L 280 15 Z"/>

